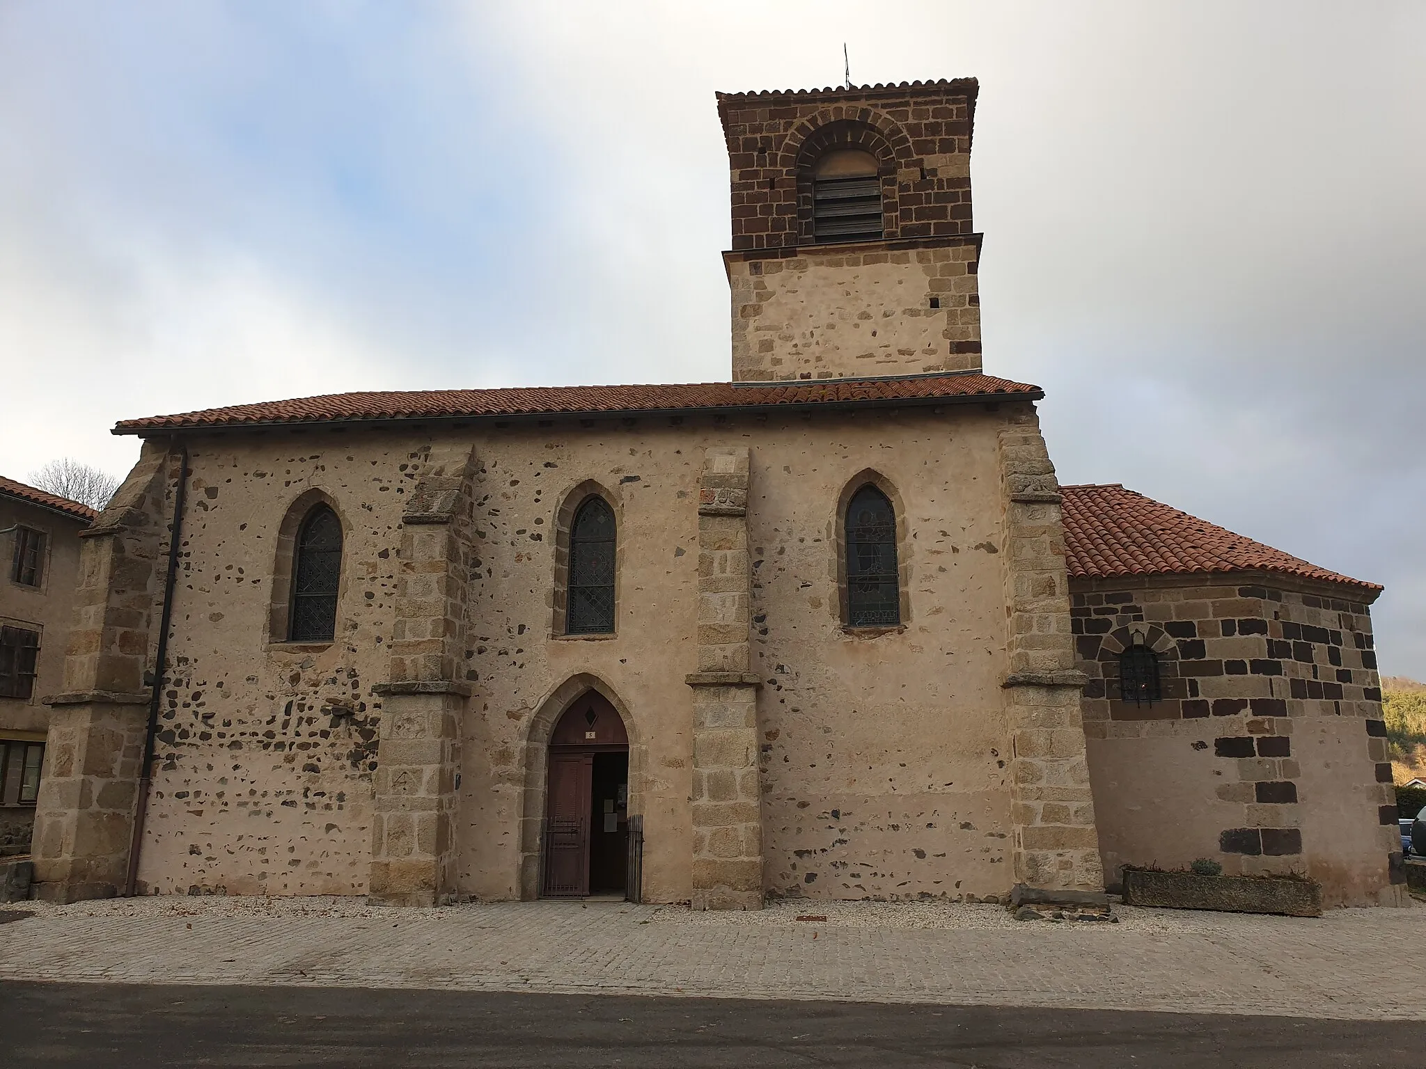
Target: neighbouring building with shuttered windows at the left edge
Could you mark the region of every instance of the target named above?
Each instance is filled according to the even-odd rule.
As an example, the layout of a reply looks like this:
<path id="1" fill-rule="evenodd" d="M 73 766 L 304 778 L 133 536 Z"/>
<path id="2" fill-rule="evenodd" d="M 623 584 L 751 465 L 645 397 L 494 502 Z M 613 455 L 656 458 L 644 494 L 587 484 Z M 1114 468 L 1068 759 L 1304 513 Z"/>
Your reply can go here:
<path id="1" fill-rule="evenodd" d="M 26 854 L 40 792 L 48 710 L 74 613 L 80 536 L 97 513 L 0 477 L 0 854 Z"/>

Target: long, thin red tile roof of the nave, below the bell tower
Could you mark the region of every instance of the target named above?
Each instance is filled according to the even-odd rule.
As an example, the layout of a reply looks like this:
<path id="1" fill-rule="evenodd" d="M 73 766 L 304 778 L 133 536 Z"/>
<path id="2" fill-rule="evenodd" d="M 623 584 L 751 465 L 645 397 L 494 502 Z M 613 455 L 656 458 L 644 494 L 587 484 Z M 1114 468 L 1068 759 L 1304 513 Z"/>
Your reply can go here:
<path id="1" fill-rule="evenodd" d="M 436 389 L 409 393 L 329 393 L 318 398 L 234 405 L 174 416 L 125 419 L 116 435 L 270 423 L 347 423 L 394 419 L 476 419 L 489 416 L 582 416 L 684 412 L 694 409 L 820 408 L 860 403 L 935 403 L 985 398 L 1038 401 L 1044 392 L 1024 382 L 980 373 L 921 375 L 904 379 L 819 379 L 770 386 L 732 382 L 672 386 L 519 386 L 513 389 Z"/>

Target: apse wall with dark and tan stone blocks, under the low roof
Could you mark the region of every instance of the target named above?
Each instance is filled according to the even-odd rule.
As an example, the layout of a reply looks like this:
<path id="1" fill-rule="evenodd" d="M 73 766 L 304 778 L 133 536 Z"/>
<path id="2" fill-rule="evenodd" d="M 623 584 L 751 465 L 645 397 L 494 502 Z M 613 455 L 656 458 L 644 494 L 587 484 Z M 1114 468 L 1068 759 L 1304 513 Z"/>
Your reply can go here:
<path id="1" fill-rule="evenodd" d="M 1111 882 L 1125 864 L 1299 872 L 1328 904 L 1399 898 L 1400 838 L 1369 607 L 1272 576 L 1075 580 L 1089 771 Z M 1118 654 L 1158 653 L 1162 701 Z M 1393 857 L 1395 855 L 1395 857 Z"/>

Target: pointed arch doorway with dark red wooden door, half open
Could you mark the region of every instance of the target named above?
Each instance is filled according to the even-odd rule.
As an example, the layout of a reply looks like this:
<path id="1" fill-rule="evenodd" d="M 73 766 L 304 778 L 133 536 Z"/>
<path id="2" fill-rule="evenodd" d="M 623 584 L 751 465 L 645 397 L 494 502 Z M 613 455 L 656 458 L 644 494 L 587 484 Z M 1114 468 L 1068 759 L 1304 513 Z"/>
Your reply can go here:
<path id="1" fill-rule="evenodd" d="M 629 735 L 619 711 L 590 690 L 549 740 L 540 895 L 626 894 L 629 838 Z"/>

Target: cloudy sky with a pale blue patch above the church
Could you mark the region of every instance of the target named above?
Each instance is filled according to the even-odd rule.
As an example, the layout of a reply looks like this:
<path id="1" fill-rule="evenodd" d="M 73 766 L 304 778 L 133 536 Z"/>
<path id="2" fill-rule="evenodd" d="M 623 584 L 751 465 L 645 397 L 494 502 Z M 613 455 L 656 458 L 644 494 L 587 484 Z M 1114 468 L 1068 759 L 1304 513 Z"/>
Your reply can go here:
<path id="1" fill-rule="evenodd" d="M 0 472 L 118 419 L 729 375 L 713 94 L 978 77 L 984 361 L 1386 584 L 1426 678 L 1426 4 L 0 0 Z"/>

